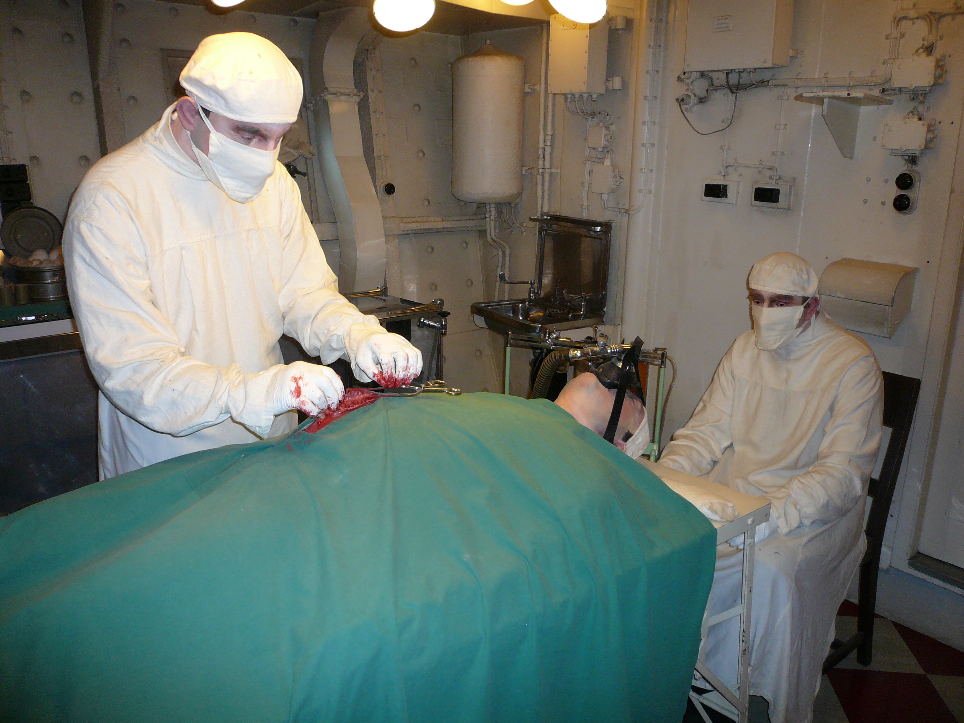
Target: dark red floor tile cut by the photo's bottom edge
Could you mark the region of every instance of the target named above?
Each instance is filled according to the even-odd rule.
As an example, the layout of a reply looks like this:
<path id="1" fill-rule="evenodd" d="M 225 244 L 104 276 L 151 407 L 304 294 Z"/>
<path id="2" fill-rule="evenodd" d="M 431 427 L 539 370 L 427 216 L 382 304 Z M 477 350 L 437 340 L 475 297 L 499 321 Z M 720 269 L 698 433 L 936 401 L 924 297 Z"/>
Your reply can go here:
<path id="1" fill-rule="evenodd" d="M 827 677 L 849 723 L 957 723 L 925 675 L 835 668 Z"/>

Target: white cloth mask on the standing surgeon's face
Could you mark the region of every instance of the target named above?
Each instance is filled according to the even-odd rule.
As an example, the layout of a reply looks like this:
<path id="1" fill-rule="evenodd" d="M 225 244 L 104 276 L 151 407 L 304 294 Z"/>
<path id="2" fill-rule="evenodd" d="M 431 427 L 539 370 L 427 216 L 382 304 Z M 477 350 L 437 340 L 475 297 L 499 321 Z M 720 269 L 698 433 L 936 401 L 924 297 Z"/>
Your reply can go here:
<path id="1" fill-rule="evenodd" d="M 198 163 L 201 164 L 201 171 L 211 183 L 234 201 L 240 203 L 254 201 L 261 194 L 268 178 L 275 173 L 281 143 L 274 150 L 261 150 L 261 148 L 237 143 L 218 133 L 210 120 L 207 120 L 200 106 L 198 111 L 201 120 L 211 131 L 207 155 L 201 153 L 201 150 L 194 145 L 190 133 L 187 137 L 191 141 L 191 147 L 194 148 Z"/>

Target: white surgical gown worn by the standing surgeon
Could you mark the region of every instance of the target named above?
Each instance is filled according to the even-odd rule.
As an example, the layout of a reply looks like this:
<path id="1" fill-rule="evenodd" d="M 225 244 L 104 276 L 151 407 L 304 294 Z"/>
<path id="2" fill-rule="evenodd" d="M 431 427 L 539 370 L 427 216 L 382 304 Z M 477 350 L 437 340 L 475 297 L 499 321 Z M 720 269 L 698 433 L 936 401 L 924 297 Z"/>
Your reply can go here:
<path id="1" fill-rule="evenodd" d="M 173 110 L 94 165 L 64 231 L 101 478 L 293 429 L 261 373 L 282 363 L 281 335 L 327 363 L 353 324 L 378 324 L 338 294 L 281 164 L 231 201 L 177 146 Z"/>

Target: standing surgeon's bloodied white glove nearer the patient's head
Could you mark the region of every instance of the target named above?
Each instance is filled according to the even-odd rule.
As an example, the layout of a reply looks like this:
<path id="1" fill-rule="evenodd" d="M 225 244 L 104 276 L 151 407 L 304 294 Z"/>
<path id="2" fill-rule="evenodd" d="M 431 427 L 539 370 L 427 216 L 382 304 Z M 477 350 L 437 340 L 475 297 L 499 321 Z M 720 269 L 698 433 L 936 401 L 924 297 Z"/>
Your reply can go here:
<path id="1" fill-rule="evenodd" d="M 421 352 L 404 336 L 375 324 L 352 324 L 345 335 L 345 351 L 360 382 L 398 387 L 421 372 Z"/>

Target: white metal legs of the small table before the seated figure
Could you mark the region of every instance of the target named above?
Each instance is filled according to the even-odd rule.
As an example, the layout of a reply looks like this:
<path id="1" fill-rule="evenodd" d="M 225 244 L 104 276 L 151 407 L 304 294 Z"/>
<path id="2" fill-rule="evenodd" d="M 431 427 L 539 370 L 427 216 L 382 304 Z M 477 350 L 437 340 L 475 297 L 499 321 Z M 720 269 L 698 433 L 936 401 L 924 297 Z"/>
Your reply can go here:
<path id="1" fill-rule="evenodd" d="M 696 676 L 710 683 L 712 690 L 706 693 L 690 691 L 689 699 L 706 723 L 711 723 L 704 707 L 717 710 L 738 723 L 746 723 L 750 706 L 750 613 L 753 606 L 753 562 L 756 555 L 757 526 L 770 518 L 770 505 L 754 510 L 733 522 L 727 522 L 716 529 L 716 544 L 743 535 L 743 585 L 740 602 L 729 610 L 710 616 L 709 603 L 703 616 L 700 653 L 696 659 Z M 720 681 L 707 667 L 706 645 L 710 627 L 726 620 L 740 618 L 738 665 L 736 687 L 731 688 Z"/>

